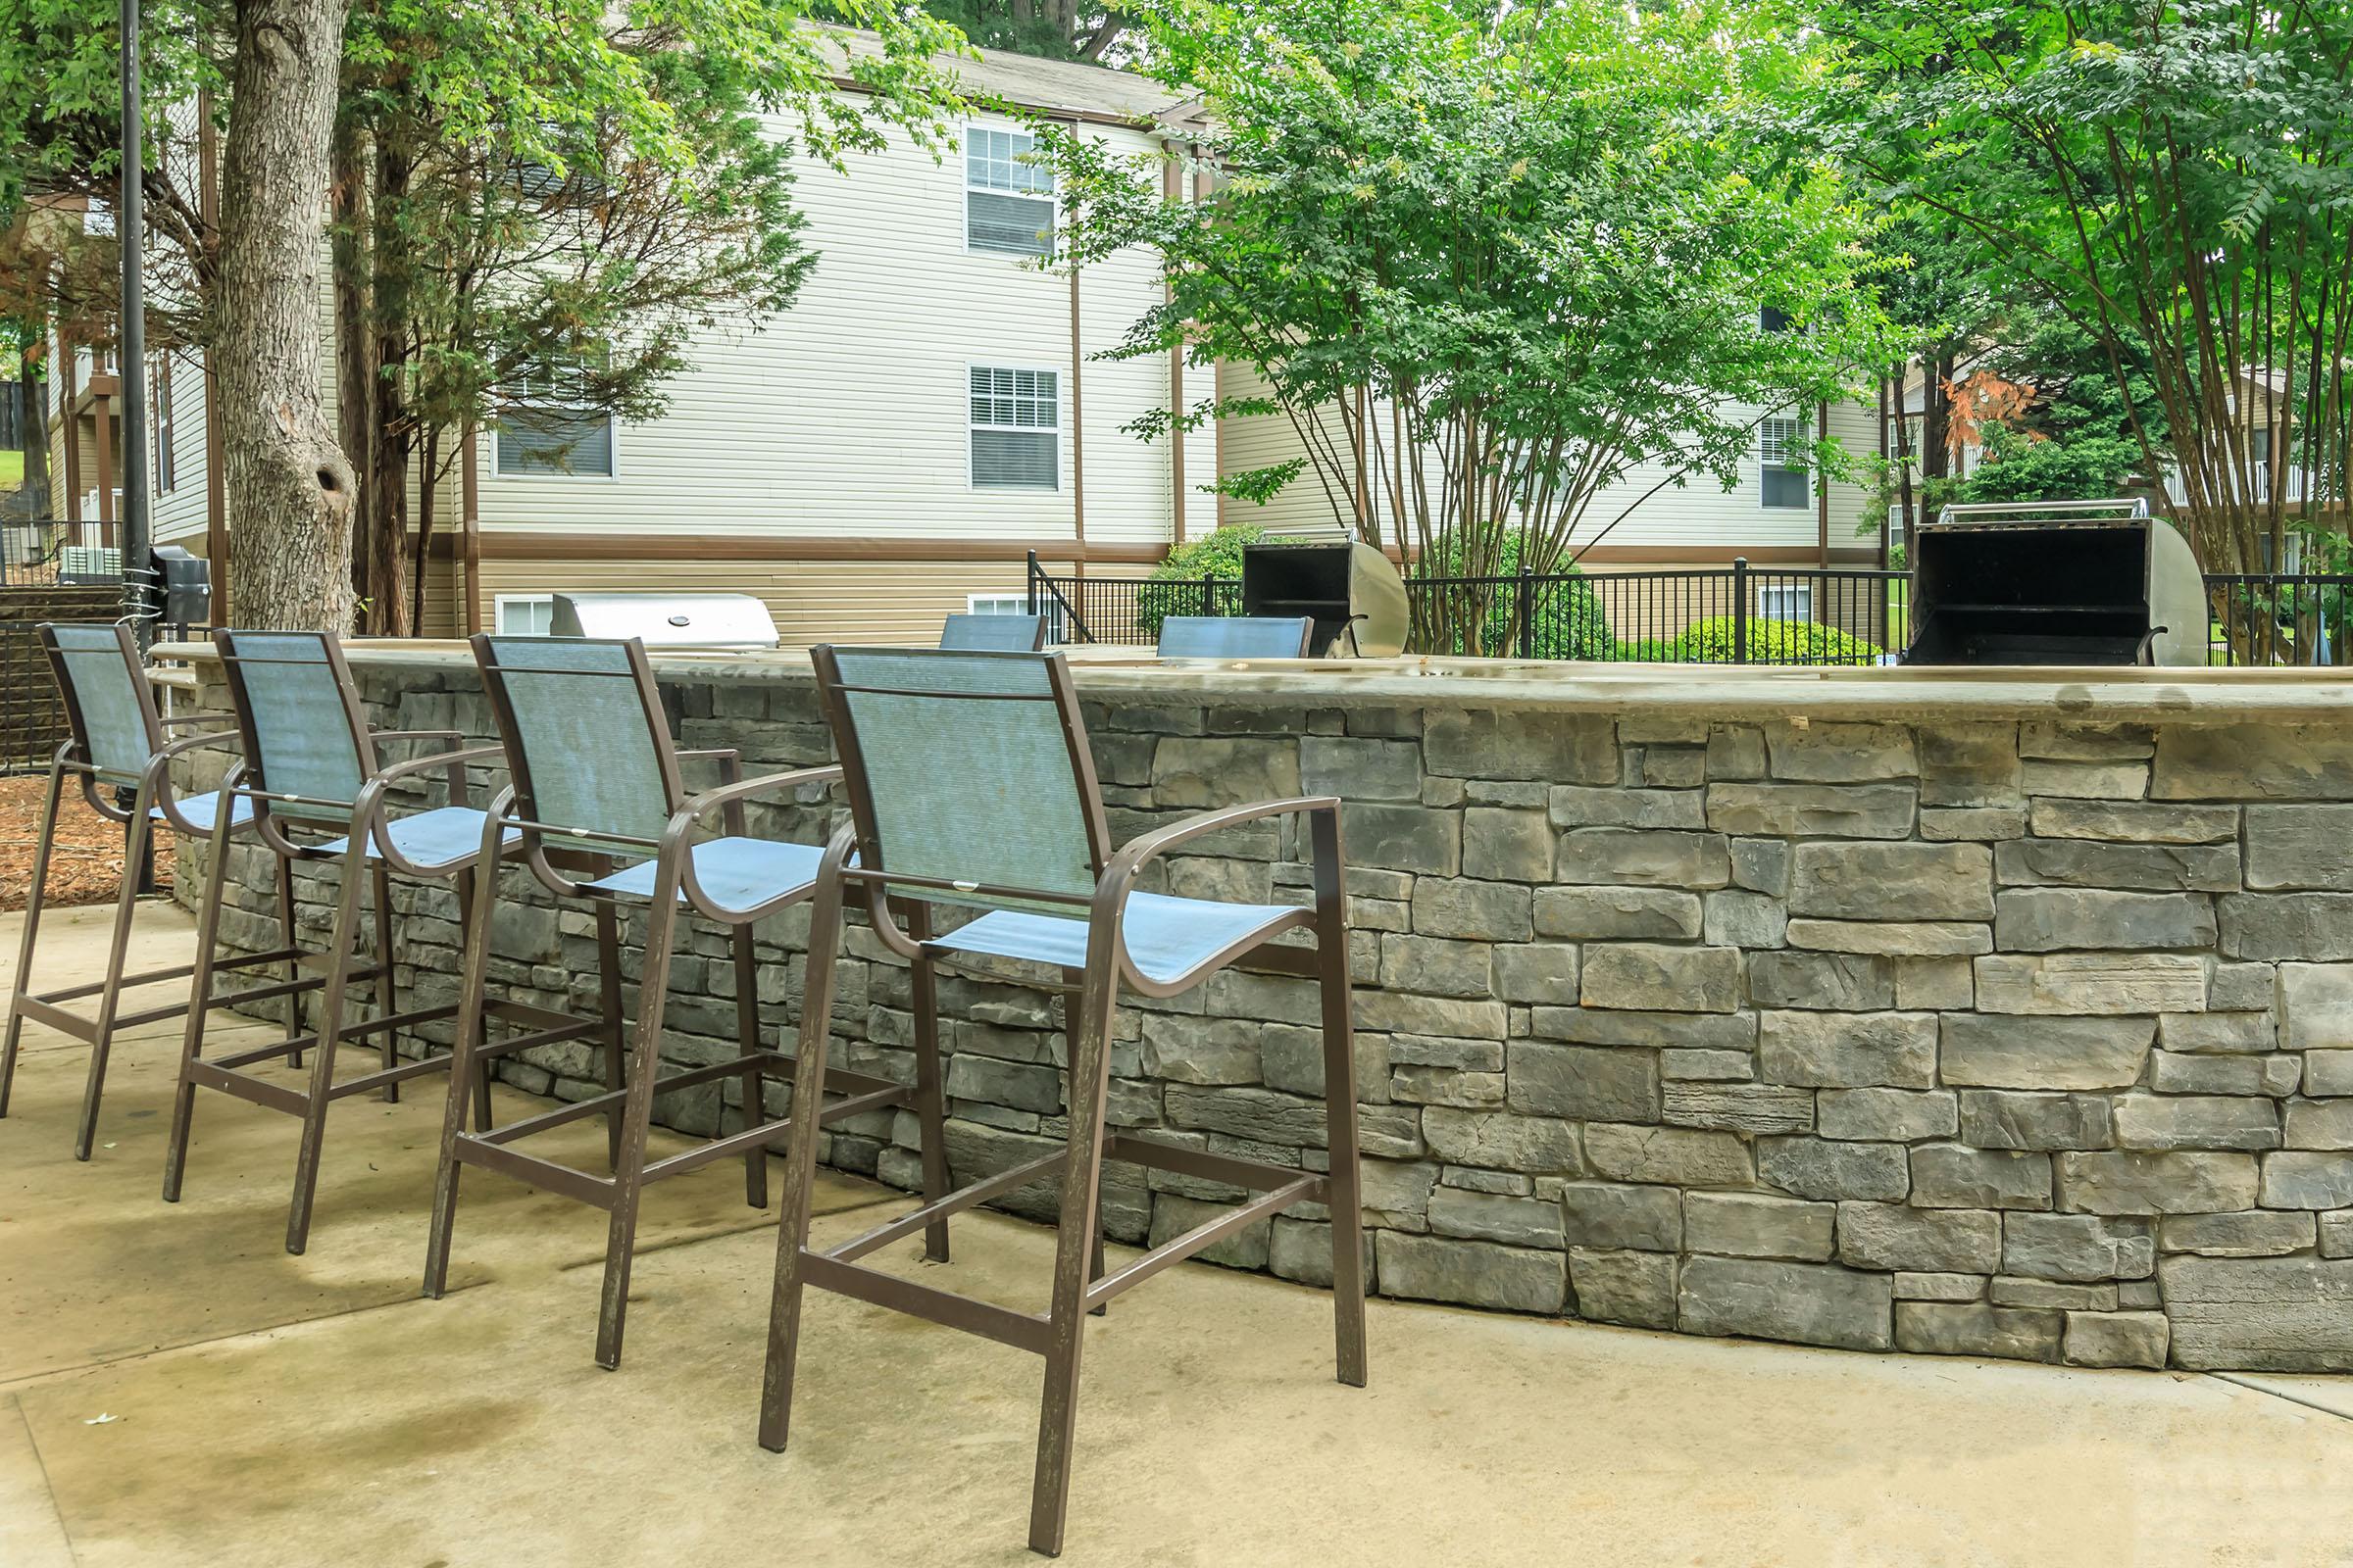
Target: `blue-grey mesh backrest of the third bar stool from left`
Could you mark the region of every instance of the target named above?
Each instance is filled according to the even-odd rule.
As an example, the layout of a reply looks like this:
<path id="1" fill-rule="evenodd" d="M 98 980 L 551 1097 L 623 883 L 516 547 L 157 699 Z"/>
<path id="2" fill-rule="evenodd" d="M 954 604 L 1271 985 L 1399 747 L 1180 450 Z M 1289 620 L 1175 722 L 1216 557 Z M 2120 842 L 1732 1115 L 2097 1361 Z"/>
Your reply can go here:
<path id="1" fill-rule="evenodd" d="M 572 849 L 647 856 L 682 790 L 671 729 L 635 639 L 473 639 L 515 776 L 515 809 Z"/>

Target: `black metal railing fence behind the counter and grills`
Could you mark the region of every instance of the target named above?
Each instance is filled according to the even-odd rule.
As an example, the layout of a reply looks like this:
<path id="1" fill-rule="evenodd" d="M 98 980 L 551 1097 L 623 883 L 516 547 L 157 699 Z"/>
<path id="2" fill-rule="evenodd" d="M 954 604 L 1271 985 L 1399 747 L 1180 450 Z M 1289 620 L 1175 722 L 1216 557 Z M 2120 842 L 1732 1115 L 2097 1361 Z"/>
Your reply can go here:
<path id="1" fill-rule="evenodd" d="M 1875 665 L 1911 639 L 1911 576 L 1729 567 L 1409 578 L 1412 649 L 1689 665 Z M 1238 616 L 1233 578 L 1054 576 L 1031 555 L 1054 642 L 1153 646 L 1165 616 Z M 2353 576 L 2209 576 L 2212 665 L 2353 665 Z"/>

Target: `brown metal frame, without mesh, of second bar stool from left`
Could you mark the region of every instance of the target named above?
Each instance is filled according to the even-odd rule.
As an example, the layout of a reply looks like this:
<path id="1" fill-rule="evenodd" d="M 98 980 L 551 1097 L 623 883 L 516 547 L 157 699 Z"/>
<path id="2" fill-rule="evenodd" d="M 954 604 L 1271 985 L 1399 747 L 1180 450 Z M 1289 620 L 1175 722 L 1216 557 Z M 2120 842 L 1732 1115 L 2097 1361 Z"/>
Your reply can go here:
<path id="1" fill-rule="evenodd" d="M 466 766 L 468 764 L 494 764 L 504 757 L 496 745 L 466 748 L 464 736 L 447 729 L 369 729 L 367 712 L 360 705 L 358 686 L 351 679 L 351 665 L 344 661 L 341 644 L 327 635 L 322 646 L 327 654 L 327 668 L 334 672 L 334 682 L 341 691 L 344 717 L 351 724 L 353 745 L 360 759 L 362 785 L 358 797 L 351 802 L 339 799 L 313 799 L 292 795 L 285 790 L 271 790 L 268 766 L 264 750 L 254 733 L 252 705 L 245 698 L 245 682 L 240 665 L 247 656 L 235 651 L 238 632 L 216 630 L 214 644 L 219 646 L 221 668 L 228 677 L 228 689 L 233 708 L 238 715 L 238 729 L 245 736 L 245 762 L 231 773 L 221 785 L 221 811 L 216 813 L 212 830 L 212 867 L 214 875 L 207 879 L 205 898 L 198 905 L 198 929 L 195 929 L 195 1001 L 198 1006 L 188 1013 L 188 1032 L 181 1041 L 179 1063 L 179 1088 L 172 1100 L 172 1140 L 165 1154 L 165 1178 L 162 1199 L 176 1204 L 181 1194 L 181 1178 L 188 1164 L 188 1128 L 195 1117 L 195 1091 L 219 1088 L 252 1105 L 287 1112 L 301 1119 L 301 1143 L 294 1157 L 294 1194 L 287 1206 L 287 1251 L 301 1253 L 311 1239 L 311 1206 L 318 1190 L 318 1166 L 320 1152 L 327 1138 L 327 1107 L 336 1100 L 348 1100 L 367 1091 L 381 1091 L 386 1100 L 400 1098 L 400 1084 L 405 1079 L 424 1077 L 428 1072 L 447 1072 L 456 1063 L 456 1053 L 424 1056 L 419 1060 L 402 1063 L 398 1053 L 398 1032 L 412 1030 L 426 1023 L 440 1023 L 454 1018 L 459 1006 L 454 1001 L 426 1009 L 400 1011 L 398 990 L 393 983 L 393 891 L 391 877 L 412 877 L 419 882 L 454 882 L 459 898 L 459 943 L 473 950 L 485 933 L 468 926 L 468 912 L 473 907 L 473 884 L 475 884 L 475 860 L 464 860 L 459 865 L 426 867 L 416 865 L 402 856 L 391 839 L 391 816 L 388 795 L 395 785 L 405 785 L 421 773 L 442 771 L 447 773 L 449 804 L 464 806 L 468 802 Z M 264 661 L 266 663 L 266 661 Z M 409 762 L 384 766 L 376 755 L 376 745 L 384 741 L 435 741 L 445 743 L 449 750 L 440 750 L 426 757 L 414 757 Z M 212 997 L 212 973 L 214 969 L 226 969 L 214 957 L 221 929 L 221 903 L 226 877 L 226 846 L 228 846 L 228 823 L 233 816 L 233 799 L 254 802 L 254 835 L 261 846 L 278 858 L 280 886 L 289 886 L 292 865 L 296 860 L 336 863 L 339 889 L 334 903 L 332 936 L 327 938 L 327 950 L 322 954 L 306 954 L 325 969 L 322 999 L 318 1011 L 318 1027 L 301 1034 L 289 1034 L 285 1041 L 273 1046 L 252 1046 L 245 1051 L 231 1051 L 228 1056 L 205 1058 L 205 1013 L 212 1006 L 231 1006 L 249 1001 L 256 992 L 240 997 Z M 344 832 L 341 849 L 327 849 L 325 844 L 299 844 L 287 837 L 287 830 L 329 830 L 332 823 L 315 818 L 292 818 L 273 811 L 275 806 L 311 806 L 348 811 L 348 823 Z M 374 844 L 374 858 L 369 858 L 367 846 Z M 374 917 L 376 917 L 376 952 L 372 959 L 360 959 L 360 884 L 367 882 L 374 893 Z M 282 896 L 287 905 L 289 893 Z M 353 983 L 365 983 L 372 992 L 374 1016 L 362 1020 L 346 1020 L 344 1004 Z M 548 1009 L 525 1006 L 518 1001 L 499 1001 L 501 1016 L 515 1018 L 518 1023 L 534 1025 L 532 1034 L 513 1041 L 504 1041 L 496 1053 L 520 1051 L 534 1044 L 555 1044 L 562 1039 L 579 1039 L 595 1030 L 593 1020 L 579 1020 L 569 1013 L 553 1013 Z M 346 1039 L 365 1039 L 369 1034 L 381 1037 L 381 1067 L 374 1072 L 336 1081 L 334 1063 L 336 1051 Z M 278 1058 L 289 1058 L 301 1065 L 301 1051 L 315 1046 L 311 1060 L 308 1088 L 287 1088 L 285 1084 L 259 1077 L 252 1067 L 273 1063 Z M 485 1074 L 482 1117 L 489 1117 L 487 1095 L 487 1072 L 489 1063 L 480 1058 L 473 1060 L 473 1070 Z"/>

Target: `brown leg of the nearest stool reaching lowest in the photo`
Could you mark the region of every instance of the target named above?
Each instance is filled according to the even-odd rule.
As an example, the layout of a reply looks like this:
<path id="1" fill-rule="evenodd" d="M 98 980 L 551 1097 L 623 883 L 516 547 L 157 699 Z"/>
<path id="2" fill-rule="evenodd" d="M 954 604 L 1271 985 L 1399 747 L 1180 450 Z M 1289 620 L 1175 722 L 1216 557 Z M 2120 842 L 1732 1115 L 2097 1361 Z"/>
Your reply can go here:
<path id="1" fill-rule="evenodd" d="M 1087 983 L 1071 1018 L 1071 1152 L 1061 1168 L 1054 1232 L 1054 1295 L 1047 1307 L 1045 1399 L 1038 1410 L 1038 1476 L 1031 1486 L 1031 1552 L 1061 1556 L 1071 1509 L 1071 1446 L 1078 1439 L 1078 1363 L 1085 1345 L 1089 1260 L 1101 1246 L 1104 1098 L 1111 1091 L 1111 1009 L 1118 1001 L 1111 940 L 1096 926 Z"/>

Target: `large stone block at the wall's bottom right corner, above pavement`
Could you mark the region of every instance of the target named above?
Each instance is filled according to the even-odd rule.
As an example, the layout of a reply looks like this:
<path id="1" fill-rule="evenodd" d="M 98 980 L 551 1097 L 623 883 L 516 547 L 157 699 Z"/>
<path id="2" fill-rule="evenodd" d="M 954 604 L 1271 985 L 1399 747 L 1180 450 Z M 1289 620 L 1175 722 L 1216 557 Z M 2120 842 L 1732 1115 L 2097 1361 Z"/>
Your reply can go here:
<path id="1" fill-rule="evenodd" d="M 2193 1371 L 2353 1371 L 2353 1260 L 2167 1258 L 2172 1361 Z"/>

